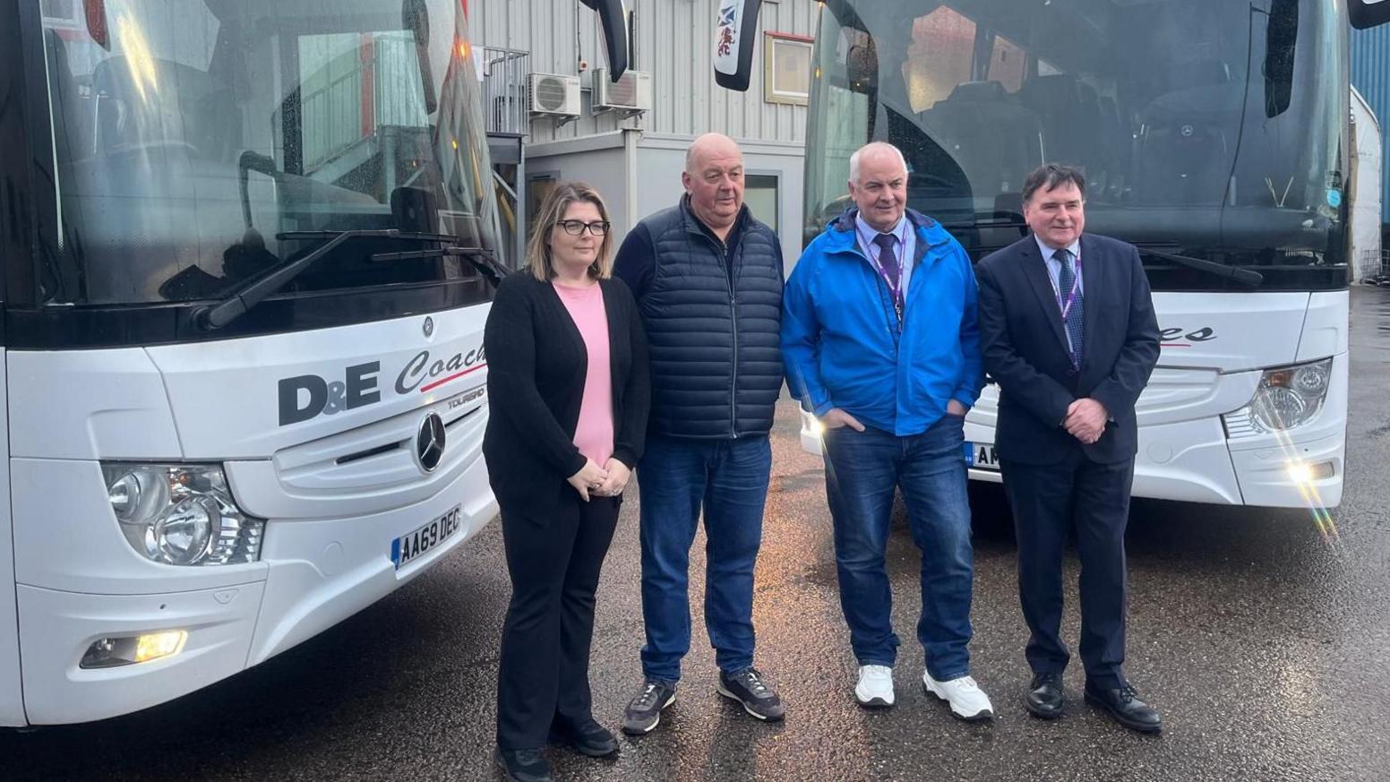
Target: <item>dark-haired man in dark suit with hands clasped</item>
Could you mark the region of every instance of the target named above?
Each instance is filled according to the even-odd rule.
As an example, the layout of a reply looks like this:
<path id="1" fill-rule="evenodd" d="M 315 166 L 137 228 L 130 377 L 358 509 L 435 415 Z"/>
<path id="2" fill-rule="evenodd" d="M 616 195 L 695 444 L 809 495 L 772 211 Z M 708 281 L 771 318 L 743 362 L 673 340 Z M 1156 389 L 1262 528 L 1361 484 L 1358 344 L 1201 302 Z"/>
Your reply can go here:
<path id="1" fill-rule="evenodd" d="M 1086 178 L 1048 164 L 1023 184 L 1033 235 L 980 262 L 984 369 L 999 385 L 995 449 L 1019 541 L 1019 597 L 1031 637 L 1027 708 L 1062 715 L 1062 547 L 1081 559 L 1086 700 L 1158 732 L 1125 678 L 1125 526 L 1138 433 L 1134 402 L 1159 333 L 1138 250 L 1083 235 Z"/>

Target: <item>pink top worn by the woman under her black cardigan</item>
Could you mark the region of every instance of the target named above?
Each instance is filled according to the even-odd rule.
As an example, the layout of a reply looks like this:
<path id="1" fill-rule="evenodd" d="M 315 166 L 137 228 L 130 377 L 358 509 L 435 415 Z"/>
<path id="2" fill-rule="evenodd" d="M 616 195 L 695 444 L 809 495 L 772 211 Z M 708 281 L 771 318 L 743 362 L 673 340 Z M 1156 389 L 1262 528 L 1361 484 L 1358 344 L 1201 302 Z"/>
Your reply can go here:
<path id="1" fill-rule="evenodd" d="M 570 310 L 574 326 L 584 337 L 589 353 L 584 374 L 584 398 L 580 401 L 580 424 L 574 429 L 574 445 L 594 463 L 603 466 L 613 455 L 613 374 L 609 369 L 607 313 L 603 309 L 603 289 L 567 288 L 557 282 L 555 292 Z"/>

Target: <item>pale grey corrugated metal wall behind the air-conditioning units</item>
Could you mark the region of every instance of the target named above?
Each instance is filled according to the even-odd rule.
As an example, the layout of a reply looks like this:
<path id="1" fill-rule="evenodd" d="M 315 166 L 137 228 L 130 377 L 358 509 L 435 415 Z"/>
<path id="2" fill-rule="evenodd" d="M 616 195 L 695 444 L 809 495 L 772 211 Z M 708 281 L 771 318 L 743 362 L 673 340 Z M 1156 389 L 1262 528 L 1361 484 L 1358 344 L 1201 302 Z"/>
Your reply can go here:
<path id="1" fill-rule="evenodd" d="M 763 33 L 815 35 L 819 3 L 763 1 L 753 79 L 746 93 L 714 83 L 710 57 L 717 6 L 717 0 L 627 0 L 637 15 L 634 68 L 652 74 L 652 111 L 632 120 L 612 113 L 595 117 L 584 74 L 582 118 L 563 127 L 550 118 L 532 121 L 531 142 L 617 128 L 681 135 L 720 131 L 741 141 L 805 141 L 805 106 L 763 100 Z M 598 15 L 577 0 L 470 0 L 468 17 L 475 45 L 527 50 L 534 72 L 578 74 L 581 56 L 589 71 L 606 65 Z"/>

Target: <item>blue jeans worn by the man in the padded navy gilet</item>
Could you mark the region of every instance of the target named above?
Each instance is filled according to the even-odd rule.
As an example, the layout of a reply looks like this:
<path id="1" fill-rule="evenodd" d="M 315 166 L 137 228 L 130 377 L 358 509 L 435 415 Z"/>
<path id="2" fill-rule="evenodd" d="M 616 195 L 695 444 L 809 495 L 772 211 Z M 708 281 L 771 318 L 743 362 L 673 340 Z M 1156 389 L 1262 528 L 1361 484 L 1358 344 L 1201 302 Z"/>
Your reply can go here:
<path id="1" fill-rule="evenodd" d="M 689 551 L 705 515 L 705 628 L 720 671 L 753 664 L 753 564 L 773 451 L 766 436 L 694 440 L 649 434 L 642 491 L 642 672 L 676 683 L 691 647 Z"/>

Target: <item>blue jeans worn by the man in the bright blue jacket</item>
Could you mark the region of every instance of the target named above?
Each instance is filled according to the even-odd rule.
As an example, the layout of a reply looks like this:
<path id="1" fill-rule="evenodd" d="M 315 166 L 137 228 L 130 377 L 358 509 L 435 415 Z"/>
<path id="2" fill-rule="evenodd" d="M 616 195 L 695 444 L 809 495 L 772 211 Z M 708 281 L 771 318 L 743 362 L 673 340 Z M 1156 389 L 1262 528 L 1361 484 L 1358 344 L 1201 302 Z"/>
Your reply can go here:
<path id="1" fill-rule="evenodd" d="M 898 657 L 892 593 L 884 552 L 894 488 L 908 504 L 912 540 L 922 550 L 922 618 L 917 640 L 927 672 L 948 680 L 970 672 L 970 502 L 960 416 L 944 416 L 927 431 L 898 437 L 849 427 L 824 434 L 826 495 L 835 527 L 840 607 L 860 665 Z"/>

